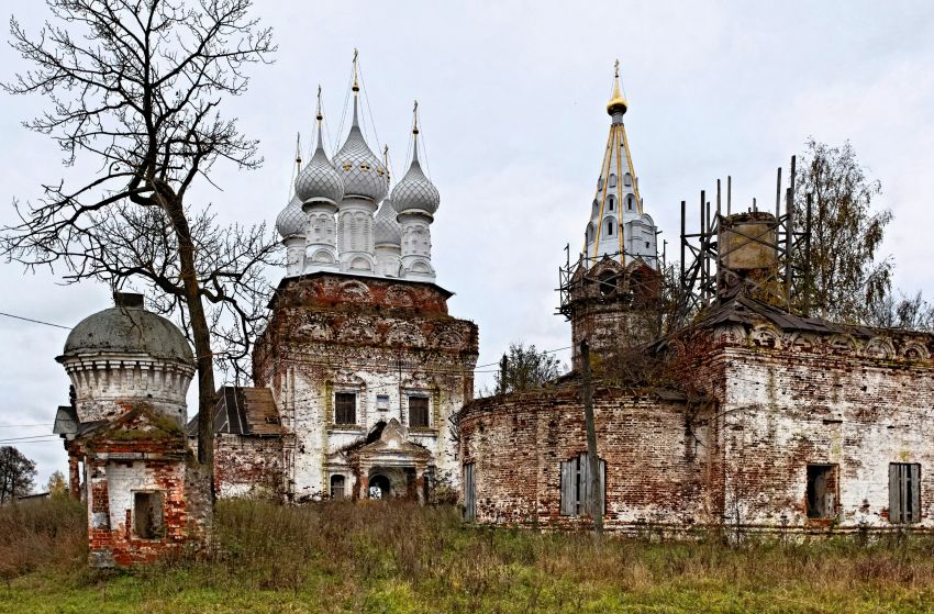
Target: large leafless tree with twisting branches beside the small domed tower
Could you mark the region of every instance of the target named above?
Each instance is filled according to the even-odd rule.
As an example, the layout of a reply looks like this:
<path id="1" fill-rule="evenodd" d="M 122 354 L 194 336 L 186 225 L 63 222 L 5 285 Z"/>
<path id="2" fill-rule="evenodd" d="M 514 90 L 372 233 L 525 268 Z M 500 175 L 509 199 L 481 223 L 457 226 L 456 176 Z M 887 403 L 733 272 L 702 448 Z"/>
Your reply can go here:
<path id="1" fill-rule="evenodd" d="M 271 31 L 249 16 L 252 0 L 47 4 L 54 23 L 36 36 L 11 20 L 11 45 L 33 68 L 4 89 L 47 99 L 26 127 L 54 138 L 66 166 L 85 158 L 101 170 L 77 187 L 45 185 L 38 203 L 16 204 L 22 223 L 7 228 L 3 249 L 27 267 L 64 263 L 73 281 L 136 278 L 160 292 L 157 306 L 178 312 L 194 346 L 198 458 L 210 468 L 215 387 L 205 301 L 232 310 L 243 328 L 256 313 L 237 299 L 257 288 L 254 267 L 273 252 L 262 228 L 219 230 L 187 198 L 218 161 L 262 164 L 257 142 L 219 107 L 246 90 L 251 65 L 270 60 Z"/>

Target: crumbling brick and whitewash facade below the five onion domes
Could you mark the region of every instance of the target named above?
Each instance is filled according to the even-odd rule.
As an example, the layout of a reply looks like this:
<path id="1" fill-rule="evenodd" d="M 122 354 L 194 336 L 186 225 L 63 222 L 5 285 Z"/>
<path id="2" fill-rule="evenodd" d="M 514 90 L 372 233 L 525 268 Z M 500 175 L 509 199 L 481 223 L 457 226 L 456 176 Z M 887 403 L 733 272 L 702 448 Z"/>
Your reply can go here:
<path id="1" fill-rule="evenodd" d="M 340 273 L 283 280 L 257 341 L 254 381 L 273 389 L 282 428 L 294 437 L 285 467 L 293 499 L 326 496 L 329 476 L 348 469 L 343 450 L 377 423 L 408 427 L 410 394 L 431 400 L 431 420 L 409 429 L 409 439 L 457 480 L 448 417 L 472 398 L 478 333 L 447 314 L 449 295 L 433 283 Z M 354 425 L 336 424 L 341 391 L 358 395 Z M 346 492 L 355 492 L 357 478 L 347 477 Z"/>

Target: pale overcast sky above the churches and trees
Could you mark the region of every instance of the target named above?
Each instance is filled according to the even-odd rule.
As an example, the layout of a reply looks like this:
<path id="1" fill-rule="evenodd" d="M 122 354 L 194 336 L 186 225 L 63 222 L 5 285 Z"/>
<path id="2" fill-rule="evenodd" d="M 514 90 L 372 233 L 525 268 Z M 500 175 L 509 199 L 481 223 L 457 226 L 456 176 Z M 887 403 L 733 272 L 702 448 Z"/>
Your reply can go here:
<path id="1" fill-rule="evenodd" d="M 576 5 L 575 5 L 576 4 Z M 11 12 L 31 32 L 40 2 Z M 885 245 L 896 283 L 934 295 L 934 3 L 919 2 L 297 2 L 257 0 L 275 30 L 276 63 L 225 102 L 262 141 L 262 170 L 218 167 L 198 192 L 224 221 L 275 220 L 289 191 L 297 132 L 310 144 L 318 85 L 332 143 L 359 48 L 370 146 L 404 171 L 412 100 L 442 196 L 432 227 L 451 312 L 480 327 L 479 364 L 510 342 L 568 346 L 554 315 L 564 247 L 580 248 L 603 155 L 605 103 L 620 58 L 626 131 L 645 211 L 674 254 L 679 202 L 733 176 L 734 202 L 771 203 L 775 170 L 804 141 L 850 139 L 894 213 Z M 5 36 L 4 36 L 5 37 Z M 0 49 L 0 78 L 25 68 Z M 0 96 L 0 222 L 14 198 L 68 177 L 47 137 L 20 121 L 46 101 Z M 373 130 L 375 127 L 375 131 Z M 344 132 L 346 132 L 346 122 Z M 80 169 L 92 172 L 93 167 Z M 786 170 L 787 172 L 787 170 Z M 56 271 L 57 272 L 57 271 Z M 278 282 L 278 275 L 270 282 Z M 110 305 L 107 288 L 0 264 L 0 311 L 74 326 Z M 55 362 L 67 331 L 0 317 L 0 440 L 51 433 L 68 380 Z M 559 353 L 568 360 L 566 351 Z M 480 373 L 481 383 L 489 373 Z M 192 411 L 193 413 L 193 411 Z M 7 425 L 7 426 L 3 426 Z M 18 425 L 18 426 L 11 426 Z M 27 426 L 19 426 L 27 425 Z M 66 470 L 60 443 L 21 450 L 40 484 Z M 42 490 L 42 489 L 41 489 Z"/>

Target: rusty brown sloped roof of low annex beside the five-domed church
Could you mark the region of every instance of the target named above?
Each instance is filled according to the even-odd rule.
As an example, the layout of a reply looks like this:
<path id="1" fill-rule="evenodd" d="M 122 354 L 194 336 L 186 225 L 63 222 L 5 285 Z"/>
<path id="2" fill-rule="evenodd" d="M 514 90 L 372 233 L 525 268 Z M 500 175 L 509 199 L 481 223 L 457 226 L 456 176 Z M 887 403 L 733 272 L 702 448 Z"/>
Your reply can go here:
<path id="1" fill-rule="evenodd" d="M 189 437 L 198 435 L 197 415 L 188 422 L 186 431 Z M 221 388 L 214 405 L 214 433 L 257 437 L 281 435 L 279 409 L 273 391 L 262 387 Z"/>

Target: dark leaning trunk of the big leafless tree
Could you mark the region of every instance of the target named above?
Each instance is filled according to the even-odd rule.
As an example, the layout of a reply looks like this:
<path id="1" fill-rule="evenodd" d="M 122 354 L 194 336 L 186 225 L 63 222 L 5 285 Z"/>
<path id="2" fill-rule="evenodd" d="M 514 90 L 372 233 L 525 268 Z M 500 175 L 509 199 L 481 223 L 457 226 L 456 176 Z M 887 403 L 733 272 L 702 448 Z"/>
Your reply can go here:
<path id="1" fill-rule="evenodd" d="M 181 280 L 185 286 L 185 299 L 188 305 L 188 319 L 191 324 L 191 337 L 194 342 L 194 358 L 198 364 L 198 462 L 204 466 L 211 482 L 211 498 L 214 496 L 214 361 L 211 353 L 211 331 L 201 304 L 198 273 L 194 268 L 194 242 L 185 216 L 185 208 L 179 199 L 169 201 L 168 215 L 178 239 L 178 259 Z"/>

